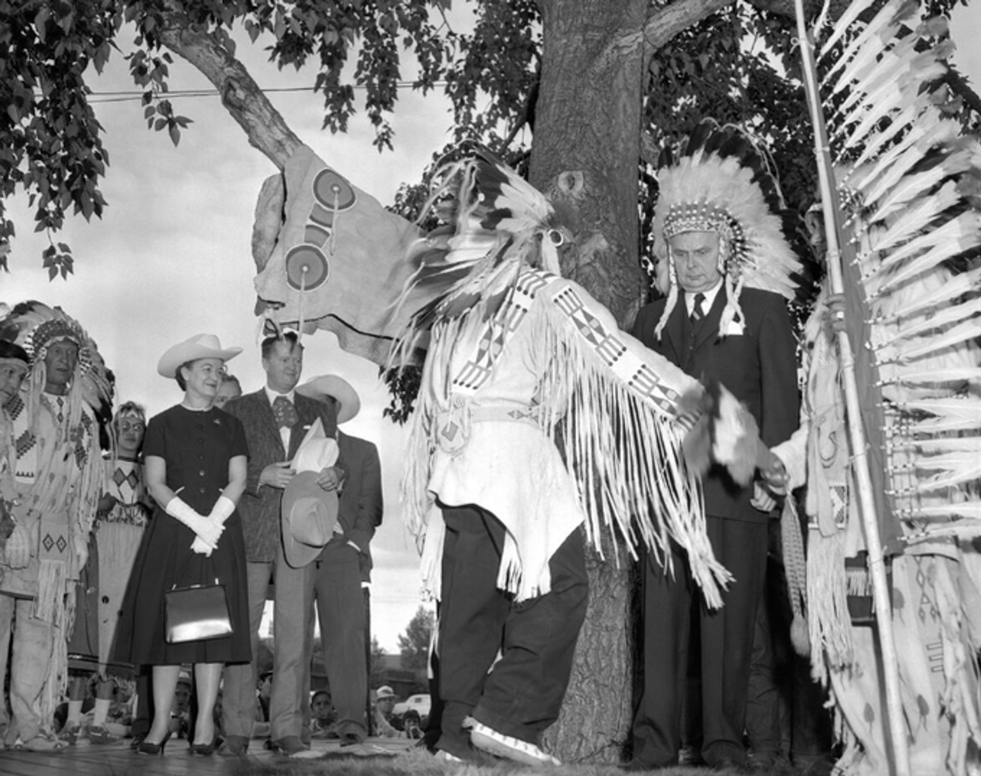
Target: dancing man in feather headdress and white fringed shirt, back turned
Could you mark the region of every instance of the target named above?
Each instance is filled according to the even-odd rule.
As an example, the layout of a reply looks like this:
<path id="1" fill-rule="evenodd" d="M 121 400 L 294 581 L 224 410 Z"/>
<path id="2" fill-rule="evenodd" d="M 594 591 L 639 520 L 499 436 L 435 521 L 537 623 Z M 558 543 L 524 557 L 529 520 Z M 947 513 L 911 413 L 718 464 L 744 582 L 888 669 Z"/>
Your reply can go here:
<path id="1" fill-rule="evenodd" d="M 662 557 L 680 543 L 706 598 L 720 600 L 729 576 L 682 450 L 712 413 L 686 411 L 683 394 L 703 397 L 697 381 L 561 278 L 572 233 L 541 193 L 488 156 L 443 181 L 434 200 L 449 195 L 439 204 L 453 229 L 420 242 L 405 298 L 441 290 L 393 354 L 401 362 L 428 337 L 403 490 L 439 600 L 436 748 L 555 762 L 539 737 L 558 716 L 586 613 L 584 539 L 602 551 L 615 527 L 631 552 Z M 724 389 L 713 412 L 714 456 L 748 479 L 748 413 Z"/>

